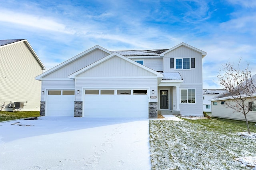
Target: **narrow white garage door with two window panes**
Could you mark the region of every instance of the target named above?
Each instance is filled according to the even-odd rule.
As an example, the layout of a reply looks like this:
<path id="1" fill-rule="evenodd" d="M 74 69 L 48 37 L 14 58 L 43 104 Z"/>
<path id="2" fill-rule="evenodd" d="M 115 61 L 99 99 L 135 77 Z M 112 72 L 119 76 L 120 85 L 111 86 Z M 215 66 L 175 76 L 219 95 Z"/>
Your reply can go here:
<path id="1" fill-rule="evenodd" d="M 74 116 L 74 90 L 48 90 L 46 116 Z"/>

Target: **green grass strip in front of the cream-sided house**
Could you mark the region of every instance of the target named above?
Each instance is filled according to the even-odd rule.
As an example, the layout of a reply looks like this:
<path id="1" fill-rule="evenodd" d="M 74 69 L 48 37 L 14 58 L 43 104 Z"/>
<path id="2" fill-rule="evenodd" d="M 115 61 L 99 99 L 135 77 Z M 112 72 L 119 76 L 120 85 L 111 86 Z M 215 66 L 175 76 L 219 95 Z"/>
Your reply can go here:
<path id="1" fill-rule="evenodd" d="M 23 111 L 23 112 L 9 112 L 0 111 L 0 122 L 10 121 L 15 119 L 22 119 L 27 117 L 39 117 L 40 111 Z"/>

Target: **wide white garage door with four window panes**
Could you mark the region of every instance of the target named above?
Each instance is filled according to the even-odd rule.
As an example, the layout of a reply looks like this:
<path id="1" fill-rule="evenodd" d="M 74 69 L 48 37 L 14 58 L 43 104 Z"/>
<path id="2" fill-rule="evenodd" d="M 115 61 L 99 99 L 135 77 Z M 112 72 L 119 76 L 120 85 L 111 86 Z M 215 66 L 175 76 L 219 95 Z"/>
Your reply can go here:
<path id="1" fill-rule="evenodd" d="M 148 90 L 85 90 L 84 117 L 148 118 Z"/>

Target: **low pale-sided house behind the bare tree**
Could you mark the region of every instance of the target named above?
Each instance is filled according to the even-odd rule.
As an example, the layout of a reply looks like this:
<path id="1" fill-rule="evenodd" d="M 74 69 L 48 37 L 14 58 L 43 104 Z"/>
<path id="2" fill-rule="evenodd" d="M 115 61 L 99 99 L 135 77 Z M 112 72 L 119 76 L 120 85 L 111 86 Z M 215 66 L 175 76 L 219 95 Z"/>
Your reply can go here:
<path id="1" fill-rule="evenodd" d="M 252 76 L 252 81 L 256 84 L 256 75 Z M 247 120 L 256 122 L 256 93 L 253 95 L 254 99 L 246 98 L 246 105 L 248 106 L 249 113 L 246 114 Z M 244 114 L 235 111 L 232 108 L 225 107 L 226 102 L 230 102 L 232 105 L 237 105 L 231 100 L 230 93 L 228 91 L 216 95 L 210 100 L 212 104 L 212 117 L 219 117 L 224 119 L 234 119 L 245 121 Z"/>

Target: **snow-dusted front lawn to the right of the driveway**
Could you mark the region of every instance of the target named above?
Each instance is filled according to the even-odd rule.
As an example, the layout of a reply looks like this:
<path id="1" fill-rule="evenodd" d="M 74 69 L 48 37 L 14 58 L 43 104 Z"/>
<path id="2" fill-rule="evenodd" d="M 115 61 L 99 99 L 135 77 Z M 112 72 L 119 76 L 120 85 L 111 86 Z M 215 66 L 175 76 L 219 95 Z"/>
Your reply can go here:
<path id="1" fill-rule="evenodd" d="M 150 120 L 152 169 L 256 170 L 255 133 L 222 131 L 213 119 L 204 120 L 209 126 L 197 121 Z"/>

